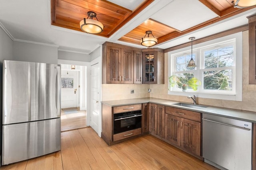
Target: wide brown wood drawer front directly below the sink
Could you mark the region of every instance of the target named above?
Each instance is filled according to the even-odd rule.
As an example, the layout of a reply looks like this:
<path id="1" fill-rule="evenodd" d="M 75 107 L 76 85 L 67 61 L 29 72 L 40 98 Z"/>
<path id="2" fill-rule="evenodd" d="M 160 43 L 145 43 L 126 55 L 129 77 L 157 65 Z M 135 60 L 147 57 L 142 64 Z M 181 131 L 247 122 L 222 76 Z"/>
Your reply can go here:
<path id="1" fill-rule="evenodd" d="M 184 109 L 178 109 L 175 107 L 165 107 L 165 113 L 182 117 L 185 119 L 190 119 L 194 121 L 201 122 L 201 113 L 195 112 L 195 111 L 190 111 L 190 110 L 184 110 Z"/>

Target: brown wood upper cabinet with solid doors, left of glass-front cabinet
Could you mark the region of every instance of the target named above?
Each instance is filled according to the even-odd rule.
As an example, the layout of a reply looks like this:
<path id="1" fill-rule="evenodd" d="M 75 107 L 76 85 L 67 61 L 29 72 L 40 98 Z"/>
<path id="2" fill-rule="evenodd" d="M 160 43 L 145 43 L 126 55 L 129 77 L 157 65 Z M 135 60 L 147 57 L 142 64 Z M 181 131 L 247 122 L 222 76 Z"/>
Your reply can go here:
<path id="1" fill-rule="evenodd" d="M 104 43 L 102 45 L 102 83 L 142 84 L 141 49 L 110 42 Z"/>

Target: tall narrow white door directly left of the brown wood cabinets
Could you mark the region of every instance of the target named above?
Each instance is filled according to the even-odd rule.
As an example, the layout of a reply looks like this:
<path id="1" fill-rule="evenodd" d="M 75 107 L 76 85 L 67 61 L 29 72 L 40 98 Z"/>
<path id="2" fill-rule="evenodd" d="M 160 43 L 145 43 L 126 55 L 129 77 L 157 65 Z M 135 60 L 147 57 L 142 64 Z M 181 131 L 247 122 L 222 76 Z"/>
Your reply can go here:
<path id="1" fill-rule="evenodd" d="M 100 67 L 91 66 L 91 119 L 90 125 L 100 135 Z"/>

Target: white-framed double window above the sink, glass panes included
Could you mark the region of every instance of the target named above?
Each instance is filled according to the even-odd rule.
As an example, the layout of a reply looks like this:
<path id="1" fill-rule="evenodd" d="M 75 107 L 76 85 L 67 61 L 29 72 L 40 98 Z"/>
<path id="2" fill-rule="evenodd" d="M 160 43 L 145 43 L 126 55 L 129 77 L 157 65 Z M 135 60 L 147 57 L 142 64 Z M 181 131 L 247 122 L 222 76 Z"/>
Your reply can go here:
<path id="1" fill-rule="evenodd" d="M 191 70 L 186 67 L 190 48 L 168 54 L 168 94 L 242 101 L 242 33 L 193 45 L 196 68 Z"/>

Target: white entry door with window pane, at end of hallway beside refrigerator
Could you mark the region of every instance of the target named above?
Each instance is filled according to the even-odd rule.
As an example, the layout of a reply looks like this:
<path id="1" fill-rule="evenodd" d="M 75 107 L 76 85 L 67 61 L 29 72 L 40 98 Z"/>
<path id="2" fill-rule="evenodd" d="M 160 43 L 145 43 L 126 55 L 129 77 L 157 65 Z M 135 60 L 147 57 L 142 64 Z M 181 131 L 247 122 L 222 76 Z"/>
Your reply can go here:
<path id="1" fill-rule="evenodd" d="M 76 71 L 61 71 L 61 108 L 77 107 L 77 80 Z"/>

